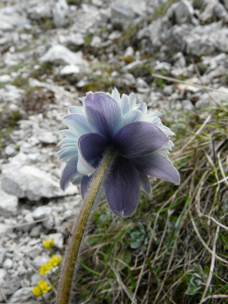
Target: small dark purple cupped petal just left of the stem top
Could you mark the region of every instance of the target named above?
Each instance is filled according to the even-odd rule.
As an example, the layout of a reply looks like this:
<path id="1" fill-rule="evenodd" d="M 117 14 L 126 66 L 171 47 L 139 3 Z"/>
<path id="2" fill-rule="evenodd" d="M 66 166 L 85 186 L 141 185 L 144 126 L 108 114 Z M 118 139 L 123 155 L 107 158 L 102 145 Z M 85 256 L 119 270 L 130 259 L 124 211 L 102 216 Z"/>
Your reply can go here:
<path id="1" fill-rule="evenodd" d="M 87 162 L 98 157 L 101 158 L 108 144 L 109 141 L 97 133 L 87 133 L 78 139 L 78 148 Z"/>

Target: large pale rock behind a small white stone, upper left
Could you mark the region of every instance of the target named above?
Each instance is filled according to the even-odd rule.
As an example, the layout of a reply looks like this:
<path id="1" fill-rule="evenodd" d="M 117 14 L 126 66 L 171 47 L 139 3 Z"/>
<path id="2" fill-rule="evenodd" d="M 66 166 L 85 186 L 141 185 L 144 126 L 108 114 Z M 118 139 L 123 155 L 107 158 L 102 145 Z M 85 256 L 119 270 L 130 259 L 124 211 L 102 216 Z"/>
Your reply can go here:
<path id="1" fill-rule="evenodd" d="M 82 52 L 74 53 L 62 45 L 51 47 L 47 53 L 39 59 L 40 63 L 51 61 L 56 65 L 79 65 L 87 67 L 88 63 L 82 58 Z"/>

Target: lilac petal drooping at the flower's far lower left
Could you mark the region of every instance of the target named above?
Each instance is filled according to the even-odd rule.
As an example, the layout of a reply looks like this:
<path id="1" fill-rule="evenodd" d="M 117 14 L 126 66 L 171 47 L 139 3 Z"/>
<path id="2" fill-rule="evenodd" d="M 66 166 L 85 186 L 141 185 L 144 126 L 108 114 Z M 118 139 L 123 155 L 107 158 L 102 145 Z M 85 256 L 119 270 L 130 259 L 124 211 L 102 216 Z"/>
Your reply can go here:
<path id="1" fill-rule="evenodd" d="M 68 186 L 69 182 L 76 177 L 78 156 L 74 156 L 68 160 L 65 168 L 63 169 L 62 175 L 60 177 L 60 188 L 64 191 Z"/>

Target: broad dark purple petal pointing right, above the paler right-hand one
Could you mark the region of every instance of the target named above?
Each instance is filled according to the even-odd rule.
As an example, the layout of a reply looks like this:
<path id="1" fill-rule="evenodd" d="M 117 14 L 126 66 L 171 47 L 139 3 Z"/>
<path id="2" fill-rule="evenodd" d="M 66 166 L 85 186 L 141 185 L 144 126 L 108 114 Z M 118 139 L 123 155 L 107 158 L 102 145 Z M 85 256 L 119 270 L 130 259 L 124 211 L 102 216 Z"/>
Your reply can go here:
<path id="1" fill-rule="evenodd" d="M 114 145 L 126 158 L 154 152 L 168 141 L 168 136 L 159 127 L 145 121 L 128 123 L 113 138 Z"/>

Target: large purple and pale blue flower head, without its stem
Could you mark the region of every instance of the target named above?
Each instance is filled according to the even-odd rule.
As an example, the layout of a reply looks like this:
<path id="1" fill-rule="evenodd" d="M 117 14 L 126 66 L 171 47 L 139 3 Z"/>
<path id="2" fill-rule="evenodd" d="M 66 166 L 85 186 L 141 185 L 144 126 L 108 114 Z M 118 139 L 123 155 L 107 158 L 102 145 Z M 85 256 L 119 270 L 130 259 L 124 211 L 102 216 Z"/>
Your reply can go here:
<path id="1" fill-rule="evenodd" d="M 177 169 L 168 158 L 174 133 L 165 127 L 160 112 L 147 113 L 146 103 L 136 104 L 133 93 L 88 92 L 79 98 L 83 107 L 70 106 L 63 121 L 69 129 L 59 133 L 59 159 L 67 161 L 60 178 L 60 188 L 69 182 L 81 183 L 84 198 L 93 172 L 110 147 L 116 150 L 113 166 L 103 188 L 111 211 L 128 217 L 135 211 L 140 187 L 151 194 L 148 175 L 180 184 Z"/>

